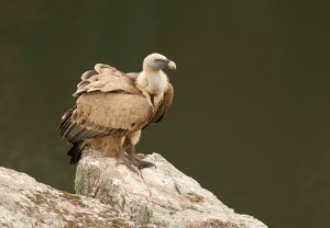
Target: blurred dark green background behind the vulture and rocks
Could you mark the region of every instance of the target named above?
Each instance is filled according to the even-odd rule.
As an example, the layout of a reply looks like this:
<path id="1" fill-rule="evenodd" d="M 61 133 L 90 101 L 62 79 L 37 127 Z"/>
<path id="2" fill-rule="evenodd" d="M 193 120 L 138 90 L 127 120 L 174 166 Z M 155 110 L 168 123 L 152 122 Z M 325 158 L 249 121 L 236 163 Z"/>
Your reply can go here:
<path id="1" fill-rule="evenodd" d="M 158 52 L 177 64 L 175 101 L 139 151 L 268 227 L 328 227 L 327 1 L 0 3 L 0 166 L 73 192 L 57 127 L 80 75 Z"/>

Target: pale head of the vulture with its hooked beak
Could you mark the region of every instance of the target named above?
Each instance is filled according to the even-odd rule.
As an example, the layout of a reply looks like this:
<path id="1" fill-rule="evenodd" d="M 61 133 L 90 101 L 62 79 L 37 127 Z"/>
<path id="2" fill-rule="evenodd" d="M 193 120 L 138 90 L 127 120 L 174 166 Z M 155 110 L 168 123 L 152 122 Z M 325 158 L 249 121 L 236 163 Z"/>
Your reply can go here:
<path id="1" fill-rule="evenodd" d="M 158 71 L 163 69 L 175 70 L 176 65 L 174 61 L 157 53 L 151 54 L 144 58 L 143 70 Z"/>

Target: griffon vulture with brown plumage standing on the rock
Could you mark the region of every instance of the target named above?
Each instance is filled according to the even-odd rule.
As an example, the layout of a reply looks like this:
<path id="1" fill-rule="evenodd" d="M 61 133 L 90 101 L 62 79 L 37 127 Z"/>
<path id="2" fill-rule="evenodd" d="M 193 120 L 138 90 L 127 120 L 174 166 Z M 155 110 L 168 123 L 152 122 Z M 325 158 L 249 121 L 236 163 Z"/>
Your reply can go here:
<path id="1" fill-rule="evenodd" d="M 161 54 L 143 60 L 139 73 L 123 73 L 109 65 L 97 64 L 86 71 L 74 96 L 76 105 L 62 117 L 59 133 L 73 147 L 70 163 L 79 161 L 85 147 L 117 163 L 139 169 L 154 166 L 135 156 L 141 129 L 160 122 L 173 100 L 173 87 L 163 69 L 176 69 L 174 61 Z M 128 155 L 125 149 L 129 149 Z"/>

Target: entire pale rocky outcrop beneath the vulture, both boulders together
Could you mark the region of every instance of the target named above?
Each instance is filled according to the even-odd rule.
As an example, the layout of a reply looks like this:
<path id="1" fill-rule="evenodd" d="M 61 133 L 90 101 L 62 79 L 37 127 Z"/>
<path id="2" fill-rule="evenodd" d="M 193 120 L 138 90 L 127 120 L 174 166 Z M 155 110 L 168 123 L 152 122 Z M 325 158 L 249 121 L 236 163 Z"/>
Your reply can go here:
<path id="1" fill-rule="evenodd" d="M 222 204 L 162 156 L 141 175 L 112 158 L 85 151 L 77 167 L 78 195 L 0 168 L 0 227 L 266 228 Z"/>

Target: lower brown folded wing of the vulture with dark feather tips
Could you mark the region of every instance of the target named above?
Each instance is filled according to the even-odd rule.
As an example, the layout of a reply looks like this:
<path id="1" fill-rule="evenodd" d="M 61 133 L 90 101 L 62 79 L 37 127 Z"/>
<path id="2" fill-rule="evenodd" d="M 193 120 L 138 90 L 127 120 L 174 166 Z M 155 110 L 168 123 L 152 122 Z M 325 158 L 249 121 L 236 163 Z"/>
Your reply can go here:
<path id="1" fill-rule="evenodd" d="M 143 95 L 124 92 L 87 92 L 64 116 L 61 135 L 69 142 L 141 128 L 150 118 L 151 106 Z"/>

